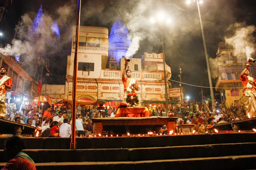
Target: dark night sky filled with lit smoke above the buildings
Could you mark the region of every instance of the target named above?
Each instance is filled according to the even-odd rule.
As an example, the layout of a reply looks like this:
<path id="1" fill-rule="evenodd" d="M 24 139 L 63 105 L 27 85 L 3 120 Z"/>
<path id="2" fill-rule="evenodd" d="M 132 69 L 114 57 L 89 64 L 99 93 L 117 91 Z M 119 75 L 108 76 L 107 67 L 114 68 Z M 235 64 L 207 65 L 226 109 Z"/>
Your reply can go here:
<path id="1" fill-rule="evenodd" d="M 0 6 L 3 6 L 5 1 L 0 1 Z M 76 24 L 77 1 L 13 0 L 13 10 L 9 12 L 15 12 L 16 23 L 15 20 L 12 21 L 14 28 L 20 16 L 24 14 L 28 14 L 34 20 L 41 4 L 45 14 L 58 20 L 61 48 L 58 54 L 51 58 L 51 69 L 53 74 L 62 79 L 66 74 L 66 56 L 71 48 L 71 43 L 67 43 L 67 39 L 70 36 L 71 26 Z M 204 0 L 200 8 L 210 58 L 215 58 L 219 42 L 224 42 L 225 37 L 234 35 L 236 24 L 244 27 L 256 26 L 255 0 Z M 165 16 L 168 16 L 166 18 L 171 19 L 169 25 L 150 23 L 150 18 L 156 17 L 159 11 L 163 11 Z M 81 25 L 106 27 L 110 31 L 113 22 L 120 17 L 119 13 L 128 27 L 131 39 L 140 37 L 140 46 L 134 54 L 135 58 L 140 58 L 143 52 L 162 52 L 160 34 L 162 29 L 166 63 L 172 69 L 171 79 L 179 81 L 177 74 L 180 65 L 182 82 L 209 86 L 198 8 L 195 2 L 187 5 L 186 0 L 82 0 Z M 255 32 L 253 34 L 255 37 Z M 63 51 L 63 55 L 60 51 Z M 177 86 L 177 83 L 172 85 Z M 192 99 L 201 100 L 199 97 L 201 88 L 189 85 L 183 87 L 185 94 L 190 95 Z M 204 95 L 209 95 L 209 89 L 204 89 Z"/>

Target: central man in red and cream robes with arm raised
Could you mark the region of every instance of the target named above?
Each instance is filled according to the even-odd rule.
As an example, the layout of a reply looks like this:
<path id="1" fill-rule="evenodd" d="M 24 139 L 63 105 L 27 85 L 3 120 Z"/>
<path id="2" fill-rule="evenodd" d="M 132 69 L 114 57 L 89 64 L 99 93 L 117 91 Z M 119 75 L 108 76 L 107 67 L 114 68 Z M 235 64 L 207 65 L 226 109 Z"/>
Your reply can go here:
<path id="1" fill-rule="evenodd" d="M 125 69 L 122 72 L 122 82 L 124 84 L 123 102 L 127 104 L 128 107 L 141 106 L 138 95 L 135 93 L 135 91 L 139 90 L 139 85 L 135 79 L 131 78 L 131 70 L 126 70 L 127 66 L 128 62 L 125 61 Z"/>

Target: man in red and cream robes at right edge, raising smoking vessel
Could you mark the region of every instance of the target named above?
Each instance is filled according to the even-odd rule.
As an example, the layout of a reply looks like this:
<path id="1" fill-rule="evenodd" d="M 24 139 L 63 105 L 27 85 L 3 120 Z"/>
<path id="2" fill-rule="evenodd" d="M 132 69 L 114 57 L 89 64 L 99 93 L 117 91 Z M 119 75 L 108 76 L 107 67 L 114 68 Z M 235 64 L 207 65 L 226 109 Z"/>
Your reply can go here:
<path id="1" fill-rule="evenodd" d="M 240 79 L 243 84 L 243 95 L 245 96 L 247 102 L 245 103 L 246 114 L 250 117 L 254 117 L 256 114 L 256 82 L 253 77 L 250 77 L 250 62 L 246 64 L 246 68 L 241 72 Z"/>

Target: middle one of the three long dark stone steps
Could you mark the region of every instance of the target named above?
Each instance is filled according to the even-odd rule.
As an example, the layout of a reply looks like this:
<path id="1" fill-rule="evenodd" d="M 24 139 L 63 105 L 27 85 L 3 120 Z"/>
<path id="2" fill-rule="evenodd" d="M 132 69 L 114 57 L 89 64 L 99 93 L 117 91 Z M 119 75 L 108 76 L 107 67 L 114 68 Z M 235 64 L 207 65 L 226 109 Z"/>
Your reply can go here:
<path id="1" fill-rule="evenodd" d="M 149 147 L 123 149 L 78 149 L 78 150 L 23 150 L 35 162 L 94 162 L 94 161 L 149 161 L 165 159 L 189 159 L 218 156 L 253 155 L 256 142 L 236 144 L 210 144 L 178 147 Z M 0 150 L 0 162 L 7 162 Z"/>

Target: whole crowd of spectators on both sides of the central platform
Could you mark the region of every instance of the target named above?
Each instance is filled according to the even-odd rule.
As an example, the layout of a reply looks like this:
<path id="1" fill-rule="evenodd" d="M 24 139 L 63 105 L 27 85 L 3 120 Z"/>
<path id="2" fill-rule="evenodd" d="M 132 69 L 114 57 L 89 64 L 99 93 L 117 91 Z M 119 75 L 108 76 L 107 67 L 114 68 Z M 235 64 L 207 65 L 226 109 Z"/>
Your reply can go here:
<path id="1" fill-rule="evenodd" d="M 207 127 L 218 123 L 232 122 L 246 119 L 243 105 L 232 104 L 229 109 L 223 103 L 215 103 L 216 111 L 211 112 L 211 102 L 184 102 L 180 104 L 169 104 L 169 113 L 178 117 L 176 125 L 195 124 L 198 133 L 206 133 Z M 162 103 L 144 103 L 144 107 L 150 111 L 150 116 L 169 116 L 166 107 Z M 93 133 L 92 118 L 114 117 L 117 107 L 105 106 L 105 110 L 97 111 L 92 105 L 76 106 L 76 133 L 77 136 L 88 136 Z M 71 107 L 58 105 L 54 108 L 47 106 L 42 113 L 33 108 L 27 113 L 20 112 L 7 114 L 5 119 L 17 123 L 27 124 L 42 129 L 42 137 L 56 136 L 69 137 L 71 135 Z M 208 133 L 210 131 L 208 130 Z"/>

